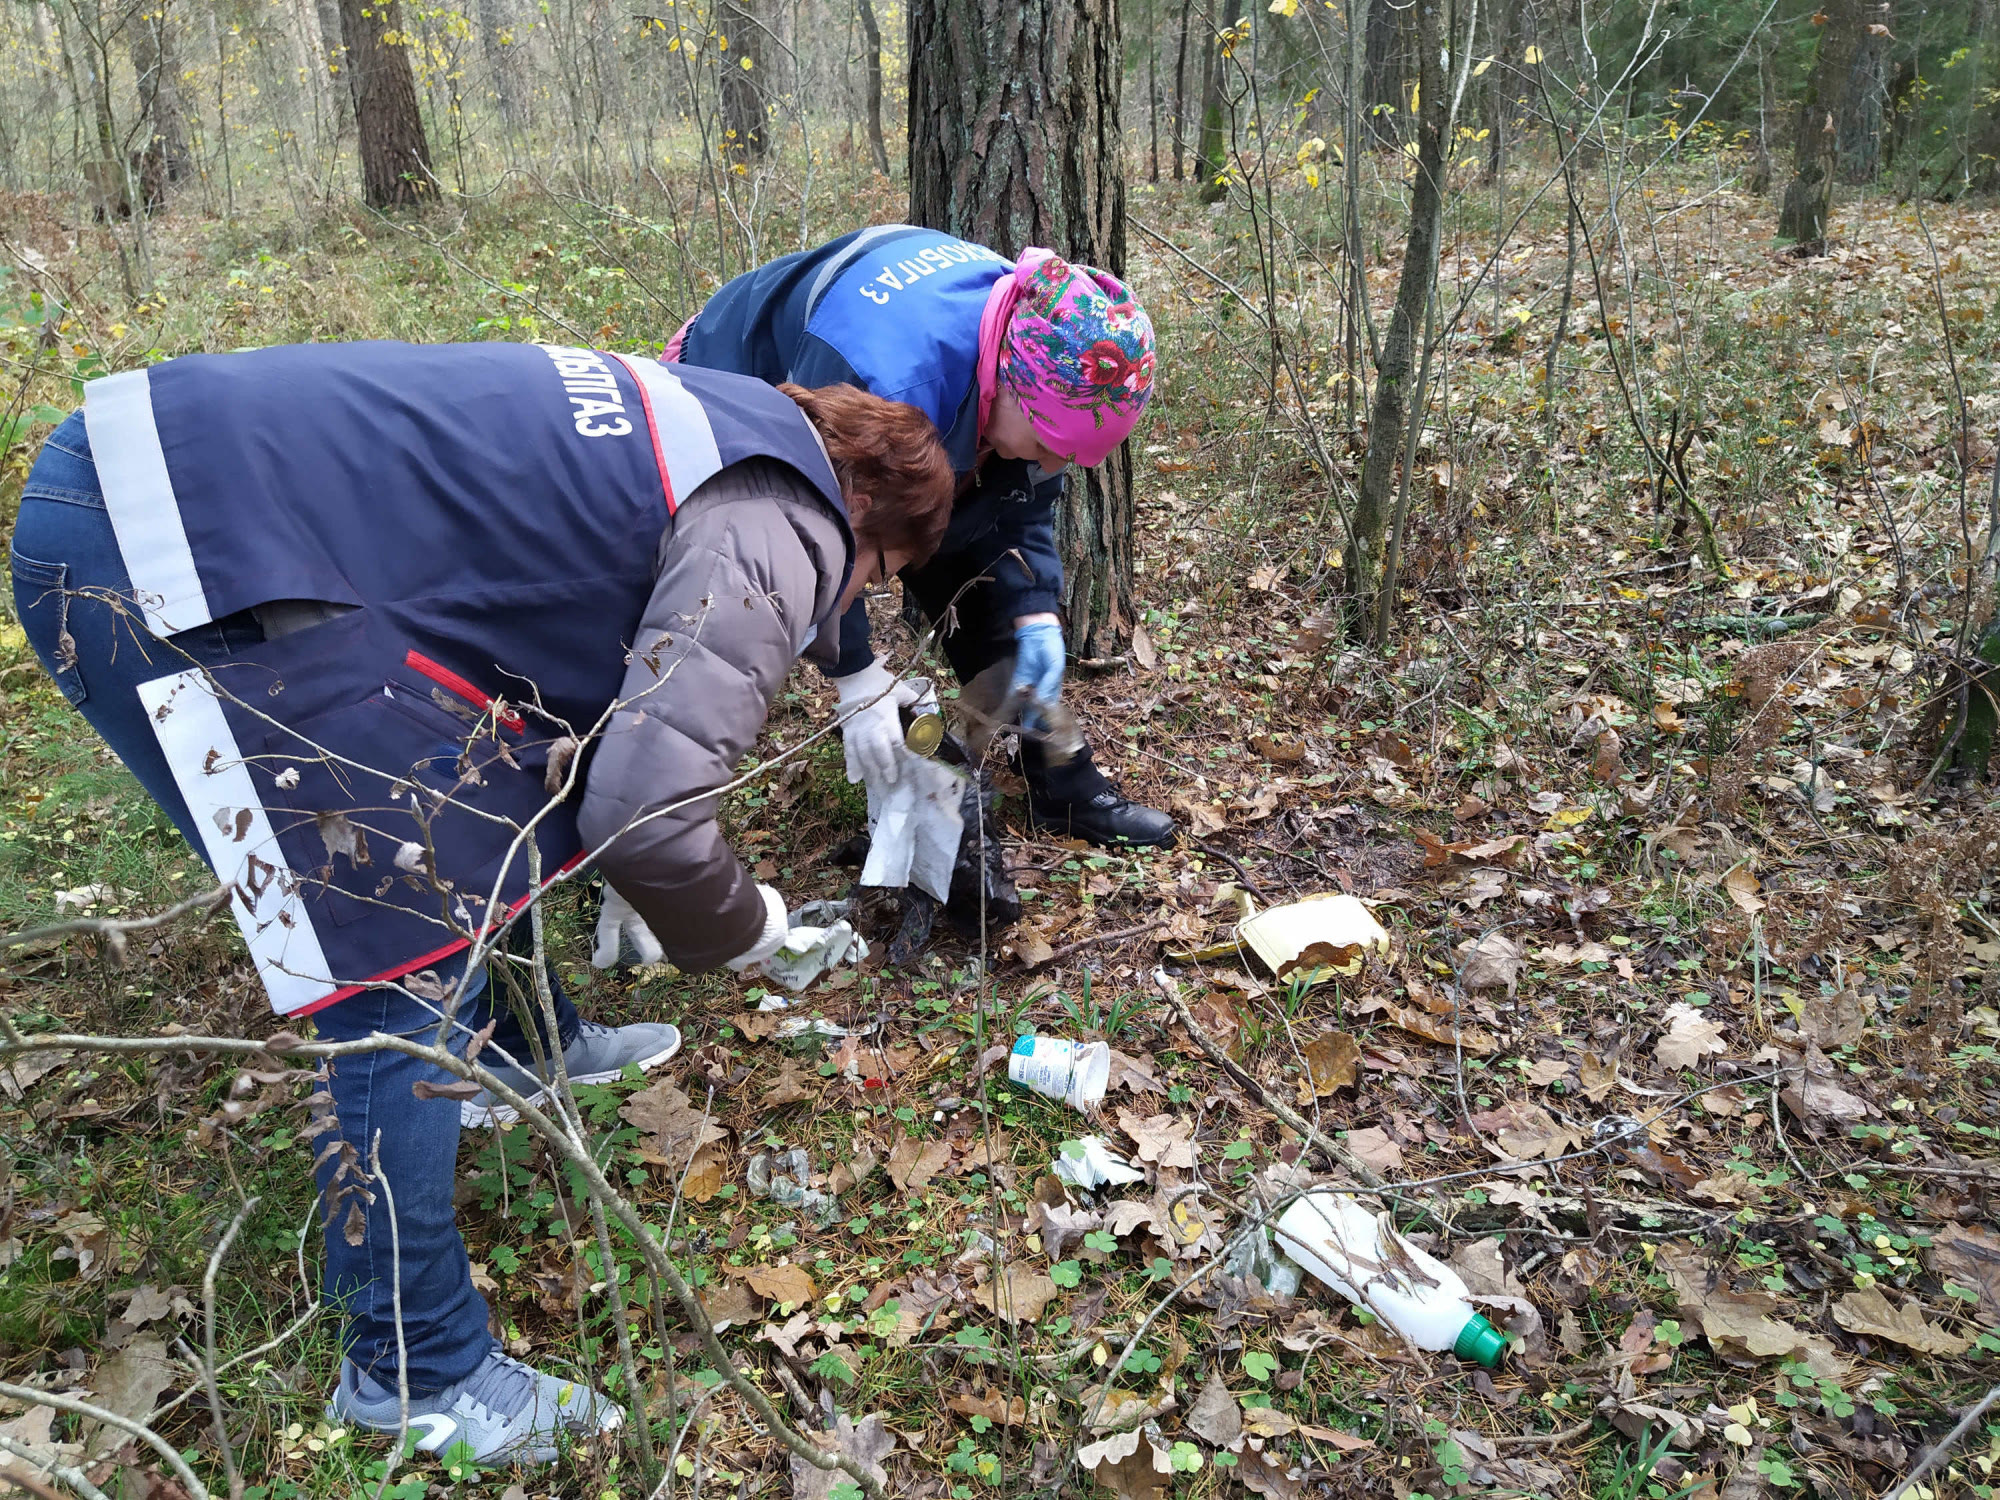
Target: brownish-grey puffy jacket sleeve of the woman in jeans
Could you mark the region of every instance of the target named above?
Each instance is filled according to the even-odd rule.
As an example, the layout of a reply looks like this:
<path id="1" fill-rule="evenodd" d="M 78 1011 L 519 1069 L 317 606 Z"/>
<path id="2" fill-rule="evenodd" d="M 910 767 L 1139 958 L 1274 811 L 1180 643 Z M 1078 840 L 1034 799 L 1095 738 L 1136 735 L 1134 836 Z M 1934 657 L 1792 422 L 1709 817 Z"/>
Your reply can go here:
<path id="1" fill-rule="evenodd" d="M 716 826 L 716 788 L 756 744 L 844 566 L 826 504 L 762 458 L 690 494 L 660 544 L 576 822 L 586 850 L 616 840 L 598 868 L 684 970 L 724 964 L 764 930 L 764 898 Z"/>

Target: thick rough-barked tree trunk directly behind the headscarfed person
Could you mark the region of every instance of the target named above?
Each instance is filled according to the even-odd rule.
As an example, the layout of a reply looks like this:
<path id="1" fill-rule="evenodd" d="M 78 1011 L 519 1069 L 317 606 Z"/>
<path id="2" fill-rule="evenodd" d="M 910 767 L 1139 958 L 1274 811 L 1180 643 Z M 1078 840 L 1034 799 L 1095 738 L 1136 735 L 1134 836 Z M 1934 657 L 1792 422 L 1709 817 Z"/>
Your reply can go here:
<path id="1" fill-rule="evenodd" d="M 910 6 L 910 222 L 1016 256 L 1030 244 L 1124 276 L 1116 0 Z M 1056 516 L 1064 624 L 1080 656 L 1132 628 L 1124 446 L 1070 476 Z"/>

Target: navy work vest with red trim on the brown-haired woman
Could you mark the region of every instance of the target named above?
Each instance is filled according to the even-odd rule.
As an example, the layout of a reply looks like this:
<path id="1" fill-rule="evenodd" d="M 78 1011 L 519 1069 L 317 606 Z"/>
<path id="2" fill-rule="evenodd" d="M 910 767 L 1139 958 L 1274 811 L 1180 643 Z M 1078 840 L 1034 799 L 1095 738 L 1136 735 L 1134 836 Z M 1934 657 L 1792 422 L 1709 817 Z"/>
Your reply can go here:
<path id="1" fill-rule="evenodd" d="M 540 344 L 300 344 L 96 380 L 84 418 L 156 636 L 350 606 L 140 688 L 280 1014 L 420 970 L 578 860 L 552 746 L 600 726 L 680 496 L 796 468 L 760 380 Z M 852 562 L 852 536 L 848 538 Z M 672 690 L 668 680 L 660 688 Z"/>

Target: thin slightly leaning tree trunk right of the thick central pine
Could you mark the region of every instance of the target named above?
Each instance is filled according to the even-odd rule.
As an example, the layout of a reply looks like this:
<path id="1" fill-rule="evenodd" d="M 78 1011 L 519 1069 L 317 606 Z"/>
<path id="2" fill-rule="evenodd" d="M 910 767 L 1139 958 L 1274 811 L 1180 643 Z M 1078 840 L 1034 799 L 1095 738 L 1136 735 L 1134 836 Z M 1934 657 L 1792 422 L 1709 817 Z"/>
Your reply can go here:
<path id="1" fill-rule="evenodd" d="M 1378 0 L 1380 4 L 1380 0 Z M 1368 456 L 1362 460 L 1362 488 L 1354 502 L 1354 530 L 1348 536 L 1346 572 L 1354 614 L 1350 634 L 1366 638 L 1386 616 L 1376 598 L 1382 584 L 1382 540 L 1388 532 L 1396 494 L 1396 466 L 1404 456 L 1410 396 L 1416 374 L 1418 332 L 1438 284 L 1438 238 L 1444 224 L 1446 150 L 1452 140 L 1452 96 L 1444 74 L 1444 0 L 1414 0 L 1416 20 L 1416 176 L 1410 184 L 1410 232 L 1404 240 L 1396 308 L 1376 364 L 1376 392 L 1368 414 Z M 1454 28 L 1456 30 L 1456 28 Z M 1454 66 L 1458 64 L 1454 42 Z M 1422 420 L 1422 410 L 1414 420 Z"/>

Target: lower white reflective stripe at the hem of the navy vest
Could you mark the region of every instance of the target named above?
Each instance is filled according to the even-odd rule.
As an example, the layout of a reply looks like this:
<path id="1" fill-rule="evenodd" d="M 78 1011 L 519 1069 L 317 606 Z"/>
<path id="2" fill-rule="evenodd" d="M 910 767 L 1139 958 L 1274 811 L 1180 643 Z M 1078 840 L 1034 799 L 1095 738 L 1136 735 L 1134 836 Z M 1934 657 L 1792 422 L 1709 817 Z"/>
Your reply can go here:
<path id="1" fill-rule="evenodd" d="M 284 864 L 208 674 L 196 668 L 142 682 L 138 696 L 202 834 L 208 862 L 232 890 L 230 914 L 250 946 L 272 1010 L 290 1016 L 324 1000 L 338 986 L 320 934 L 298 898 L 298 876 Z"/>

